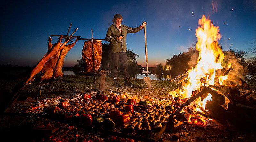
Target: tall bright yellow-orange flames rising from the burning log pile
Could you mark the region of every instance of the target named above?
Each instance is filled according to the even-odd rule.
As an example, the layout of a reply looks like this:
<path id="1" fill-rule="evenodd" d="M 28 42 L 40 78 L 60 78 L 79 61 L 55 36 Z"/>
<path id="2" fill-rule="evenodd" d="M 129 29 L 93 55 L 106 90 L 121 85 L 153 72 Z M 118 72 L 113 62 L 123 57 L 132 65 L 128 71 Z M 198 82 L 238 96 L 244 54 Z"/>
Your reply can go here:
<path id="1" fill-rule="evenodd" d="M 182 83 L 182 89 L 176 89 L 169 92 L 173 97 L 190 98 L 193 91 L 201 91 L 204 83 L 214 85 L 215 77 L 219 79 L 218 83 L 222 84 L 228 78 L 228 75 L 217 76 L 216 70 L 222 69 L 224 54 L 218 45 L 218 40 L 221 39 L 219 27 L 214 26 L 211 20 L 204 15 L 198 20 L 198 28 L 196 29 L 197 44 L 196 50 L 199 51 L 196 67 L 188 71 L 188 79 L 186 83 Z M 231 63 L 228 64 L 231 67 Z M 201 82 L 200 79 L 204 79 Z M 212 95 L 208 94 L 201 101 L 199 98 L 194 101 L 197 104 L 195 111 L 202 112 L 201 108 L 205 108 L 206 101 L 212 101 Z M 195 120 L 197 121 L 197 120 Z M 190 121 L 191 122 L 191 121 Z"/>

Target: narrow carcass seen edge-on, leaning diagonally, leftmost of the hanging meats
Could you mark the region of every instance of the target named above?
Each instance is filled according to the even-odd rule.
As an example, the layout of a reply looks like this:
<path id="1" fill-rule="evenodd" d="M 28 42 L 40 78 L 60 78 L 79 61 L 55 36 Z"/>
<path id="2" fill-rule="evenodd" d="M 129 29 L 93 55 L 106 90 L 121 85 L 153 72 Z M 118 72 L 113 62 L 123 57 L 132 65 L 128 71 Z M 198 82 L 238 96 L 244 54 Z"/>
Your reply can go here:
<path id="1" fill-rule="evenodd" d="M 49 50 L 44 57 L 37 63 L 36 67 L 30 72 L 30 76 L 28 77 L 28 80 L 25 82 L 25 84 L 27 84 L 29 81 L 33 81 L 33 77 L 39 73 L 42 68 L 44 67 L 44 64 L 52 57 L 54 56 L 58 51 L 62 50 L 65 45 L 68 43 L 69 40 L 65 40 L 65 42 L 62 44 L 60 43 L 62 40 L 63 36 L 60 36 L 59 40 L 57 41 L 57 43 L 52 45 L 51 50 Z M 50 45 L 51 46 L 51 45 Z M 48 44 L 48 48 L 49 48 L 49 44 Z"/>

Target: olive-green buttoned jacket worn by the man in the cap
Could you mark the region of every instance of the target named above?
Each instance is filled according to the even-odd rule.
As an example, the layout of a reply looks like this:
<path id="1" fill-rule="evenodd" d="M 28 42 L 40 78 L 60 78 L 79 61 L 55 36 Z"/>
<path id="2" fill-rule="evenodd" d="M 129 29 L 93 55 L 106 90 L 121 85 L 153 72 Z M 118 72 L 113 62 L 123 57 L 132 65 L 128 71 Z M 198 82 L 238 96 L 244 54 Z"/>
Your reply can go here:
<path id="1" fill-rule="evenodd" d="M 126 25 L 121 24 L 121 30 L 123 39 L 122 40 L 117 40 L 116 36 L 120 36 L 121 32 L 117 28 L 116 24 L 112 24 L 109 26 L 107 34 L 106 34 L 106 40 L 110 42 L 110 47 L 112 53 L 117 53 L 117 52 L 126 52 L 126 35 L 127 33 L 137 33 L 138 31 L 141 30 L 140 26 L 137 28 L 131 28 Z M 122 50 L 123 49 L 123 50 Z"/>

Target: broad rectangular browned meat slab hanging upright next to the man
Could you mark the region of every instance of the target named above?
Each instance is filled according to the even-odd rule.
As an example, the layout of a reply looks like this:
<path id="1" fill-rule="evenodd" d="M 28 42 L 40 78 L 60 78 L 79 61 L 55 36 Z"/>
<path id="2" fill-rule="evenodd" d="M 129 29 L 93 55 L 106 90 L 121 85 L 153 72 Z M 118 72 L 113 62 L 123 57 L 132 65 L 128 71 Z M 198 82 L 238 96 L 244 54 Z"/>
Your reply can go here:
<path id="1" fill-rule="evenodd" d="M 94 49 L 94 65 L 95 71 L 100 69 L 100 63 L 102 59 L 102 43 L 101 40 L 93 40 Z M 82 51 L 82 59 L 85 63 L 85 72 L 93 73 L 93 61 L 92 61 L 92 41 L 88 40 L 84 42 Z"/>

